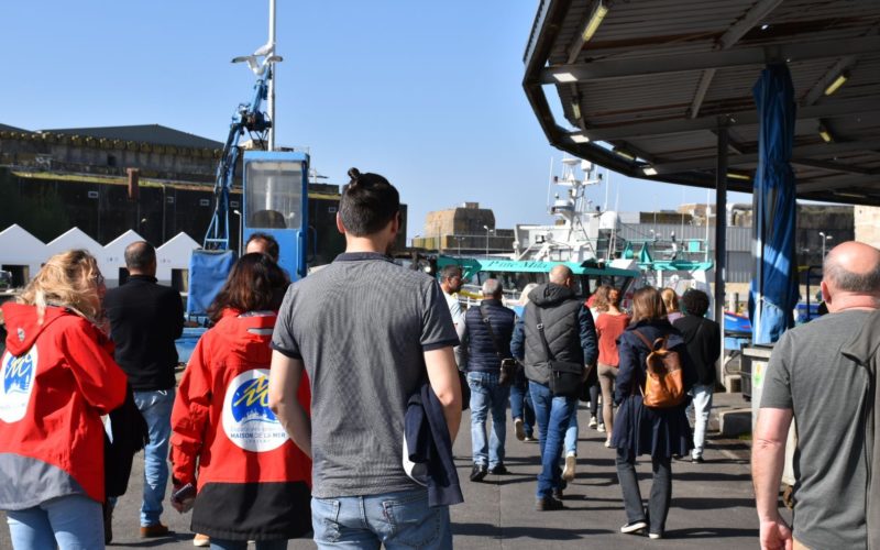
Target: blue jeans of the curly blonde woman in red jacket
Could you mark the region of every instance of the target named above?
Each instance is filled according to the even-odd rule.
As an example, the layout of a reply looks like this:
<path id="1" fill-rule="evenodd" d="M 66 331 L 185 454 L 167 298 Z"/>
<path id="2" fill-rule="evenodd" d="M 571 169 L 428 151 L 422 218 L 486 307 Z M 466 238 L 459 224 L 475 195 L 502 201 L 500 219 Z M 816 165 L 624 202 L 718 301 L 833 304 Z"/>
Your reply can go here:
<path id="1" fill-rule="evenodd" d="M 7 512 L 15 550 L 103 549 L 101 504 L 86 495 L 67 495 L 23 510 Z"/>

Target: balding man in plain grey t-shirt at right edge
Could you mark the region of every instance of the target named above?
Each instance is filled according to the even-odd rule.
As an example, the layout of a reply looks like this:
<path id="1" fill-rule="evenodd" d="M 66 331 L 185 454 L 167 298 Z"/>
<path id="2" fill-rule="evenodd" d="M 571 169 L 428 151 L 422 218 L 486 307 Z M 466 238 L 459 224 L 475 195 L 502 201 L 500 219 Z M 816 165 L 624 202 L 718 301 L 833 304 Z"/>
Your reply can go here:
<path id="1" fill-rule="evenodd" d="M 871 384 L 842 346 L 880 304 L 880 251 L 858 242 L 836 246 L 825 258 L 822 294 L 829 315 L 782 336 L 763 382 L 752 446 L 761 548 L 783 548 L 791 538 L 807 548 L 867 548 Z M 792 417 L 793 535 L 777 509 Z"/>

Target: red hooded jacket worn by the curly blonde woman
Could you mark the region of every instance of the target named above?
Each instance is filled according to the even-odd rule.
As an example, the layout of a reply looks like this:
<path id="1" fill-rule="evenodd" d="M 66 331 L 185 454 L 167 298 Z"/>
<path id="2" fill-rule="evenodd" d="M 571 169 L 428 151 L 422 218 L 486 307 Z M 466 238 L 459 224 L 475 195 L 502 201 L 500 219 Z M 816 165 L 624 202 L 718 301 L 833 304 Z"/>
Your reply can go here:
<path id="1" fill-rule="evenodd" d="M 101 415 L 122 405 L 127 385 L 112 343 L 65 308 L 47 307 L 42 323 L 35 306 L 2 309 L 0 507 L 82 492 L 103 502 Z"/>

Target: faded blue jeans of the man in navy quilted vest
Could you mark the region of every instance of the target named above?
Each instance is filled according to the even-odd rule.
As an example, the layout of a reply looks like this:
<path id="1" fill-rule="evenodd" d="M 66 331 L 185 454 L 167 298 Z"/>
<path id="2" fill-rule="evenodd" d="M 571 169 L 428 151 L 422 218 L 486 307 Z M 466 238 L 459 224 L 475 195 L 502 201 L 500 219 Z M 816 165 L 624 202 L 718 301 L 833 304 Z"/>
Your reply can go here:
<path id="1" fill-rule="evenodd" d="M 508 386 L 498 384 L 497 373 L 468 373 L 471 388 L 471 449 L 474 464 L 495 468 L 504 464 L 504 442 L 507 437 Z M 486 452 L 486 417 L 492 413 L 492 437 Z"/>

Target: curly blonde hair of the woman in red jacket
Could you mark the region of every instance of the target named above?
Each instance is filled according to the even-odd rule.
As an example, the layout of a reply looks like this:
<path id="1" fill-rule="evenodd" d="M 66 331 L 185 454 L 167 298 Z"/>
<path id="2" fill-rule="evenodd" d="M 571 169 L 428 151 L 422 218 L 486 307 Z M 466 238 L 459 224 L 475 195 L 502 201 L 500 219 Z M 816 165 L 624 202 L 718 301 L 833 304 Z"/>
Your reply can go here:
<path id="1" fill-rule="evenodd" d="M 101 314 L 98 278 L 101 275 L 95 256 L 85 250 L 69 250 L 50 257 L 40 273 L 24 288 L 18 302 L 36 306 L 42 324 L 46 306 L 62 306 L 95 322 Z"/>

